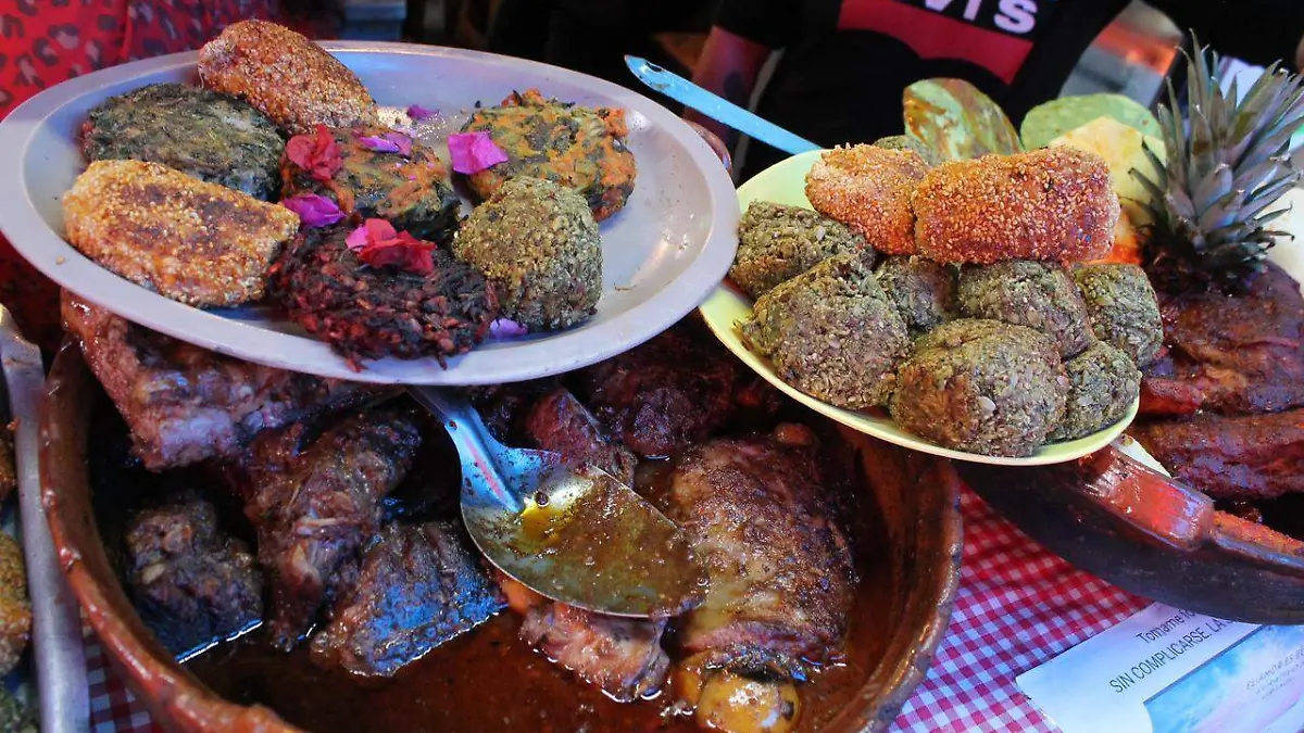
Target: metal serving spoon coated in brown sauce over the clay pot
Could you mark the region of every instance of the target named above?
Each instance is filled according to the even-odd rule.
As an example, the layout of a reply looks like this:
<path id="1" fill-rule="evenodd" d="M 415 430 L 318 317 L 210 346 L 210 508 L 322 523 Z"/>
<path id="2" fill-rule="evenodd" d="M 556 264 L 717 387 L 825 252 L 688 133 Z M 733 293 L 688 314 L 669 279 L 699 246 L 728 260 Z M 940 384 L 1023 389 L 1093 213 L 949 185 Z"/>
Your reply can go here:
<path id="1" fill-rule="evenodd" d="M 510 449 L 475 407 L 408 387 L 462 459 L 462 519 L 496 567 L 549 599 L 612 616 L 666 617 L 702 603 L 705 573 L 679 528 L 634 489 L 557 453 Z"/>

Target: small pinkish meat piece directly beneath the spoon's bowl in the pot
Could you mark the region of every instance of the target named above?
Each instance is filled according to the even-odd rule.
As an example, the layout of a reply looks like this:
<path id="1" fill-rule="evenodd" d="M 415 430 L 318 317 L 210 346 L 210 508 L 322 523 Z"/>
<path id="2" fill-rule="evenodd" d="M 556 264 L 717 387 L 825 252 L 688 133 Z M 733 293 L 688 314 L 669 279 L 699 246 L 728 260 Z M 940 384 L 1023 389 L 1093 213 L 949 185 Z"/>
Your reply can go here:
<path id="1" fill-rule="evenodd" d="M 520 638 L 613 699 L 634 702 L 661 687 L 670 657 L 665 621 L 601 616 L 548 603 L 526 614 Z"/>

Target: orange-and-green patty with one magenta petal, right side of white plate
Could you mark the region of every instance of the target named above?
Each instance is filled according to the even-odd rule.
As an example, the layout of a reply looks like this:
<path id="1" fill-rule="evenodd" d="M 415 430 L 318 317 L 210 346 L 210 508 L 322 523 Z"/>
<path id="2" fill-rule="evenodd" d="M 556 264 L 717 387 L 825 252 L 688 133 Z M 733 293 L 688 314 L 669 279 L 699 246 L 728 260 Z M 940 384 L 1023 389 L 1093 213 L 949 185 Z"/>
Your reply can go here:
<path id="1" fill-rule="evenodd" d="M 488 132 L 507 162 L 473 173 L 471 189 L 489 198 L 516 176 L 548 179 L 575 189 L 593 218 L 618 211 L 634 193 L 634 154 L 625 145 L 623 110 L 579 107 L 544 99 L 537 89 L 512 93 L 498 107 L 476 111 L 463 132 Z"/>

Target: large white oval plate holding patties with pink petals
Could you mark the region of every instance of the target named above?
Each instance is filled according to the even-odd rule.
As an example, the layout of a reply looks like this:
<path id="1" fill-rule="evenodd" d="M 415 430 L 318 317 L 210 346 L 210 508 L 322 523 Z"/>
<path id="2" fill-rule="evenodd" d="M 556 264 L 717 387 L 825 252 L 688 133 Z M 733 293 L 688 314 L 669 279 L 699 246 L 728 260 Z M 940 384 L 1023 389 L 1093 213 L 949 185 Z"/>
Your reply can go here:
<path id="1" fill-rule="evenodd" d="M 130 321 L 250 361 L 368 382 L 482 385 L 593 364 L 664 331 L 705 299 L 733 262 L 738 201 L 711 147 L 664 107 L 584 74 L 473 51 L 402 43 L 326 43 L 382 106 L 464 116 L 512 90 L 539 87 L 580 104 L 621 107 L 638 180 L 629 205 L 602 223 L 602 297 L 583 325 L 492 342 L 450 360 L 366 361 L 352 372 L 329 346 L 274 310 L 200 310 L 87 260 L 63 240 L 60 197 L 85 168 L 77 132 L 106 98 L 147 83 L 194 81 L 194 53 L 124 64 L 52 87 L 0 123 L 0 230 L 52 280 Z M 451 125 L 450 125 L 451 127 Z"/>

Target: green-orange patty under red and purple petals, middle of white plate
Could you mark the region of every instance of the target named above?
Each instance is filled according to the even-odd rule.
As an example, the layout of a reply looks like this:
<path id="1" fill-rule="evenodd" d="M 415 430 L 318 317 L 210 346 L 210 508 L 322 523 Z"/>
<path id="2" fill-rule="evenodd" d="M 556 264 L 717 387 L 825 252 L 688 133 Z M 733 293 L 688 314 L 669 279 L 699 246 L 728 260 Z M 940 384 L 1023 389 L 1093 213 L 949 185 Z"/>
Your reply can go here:
<path id="1" fill-rule="evenodd" d="M 340 168 L 326 181 L 313 177 L 288 154 L 283 155 L 284 196 L 322 194 L 335 201 L 346 218 L 357 213 L 385 219 L 412 236 L 446 243 L 456 228 L 462 202 L 452 190 L 443 160 L 416 140 L 411 141 L 412 149 L 406 155 L 373 150 L 364 143 L 364 140 L 385 134 L 394 133 L 376 127 L 330 130 L 339 150 Z"/>

